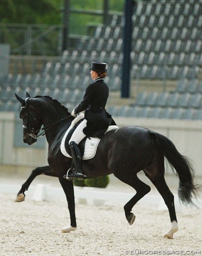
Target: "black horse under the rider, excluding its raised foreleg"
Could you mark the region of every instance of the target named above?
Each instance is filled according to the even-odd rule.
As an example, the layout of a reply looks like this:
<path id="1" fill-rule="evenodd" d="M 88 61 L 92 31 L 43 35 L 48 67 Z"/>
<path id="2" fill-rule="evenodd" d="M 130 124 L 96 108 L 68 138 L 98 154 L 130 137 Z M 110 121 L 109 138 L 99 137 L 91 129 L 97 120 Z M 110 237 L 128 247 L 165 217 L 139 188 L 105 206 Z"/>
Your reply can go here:
<path id="1" fill-rule="evenodd" d="M 67 108 L 51 97 L 30 98 L 30 95 L 27 95 L 26 100 L 23 100 L 16 95 L 16 98 L 22 105 L 20 117 L 23 121 L 25 143 L 31 145 L 36 142 L 41 126 L 44 125 L 48 142 L 48 163 L 62 185 L 70 212 L 70 226 L 63 228 L 62 232 L 69 233 L 77 227 L 73 182 L 63 178 L 71 166 L 71 159 L 62 155 L 60 144 L 73 117 Z M 143 170 L 169 209 L 171 229 L 164 237 L 173 238 L 173 234 L 178 231 L 178 223 L 174 196 L 164 179 L 164 157 L 178 174 L 178 194 L 181 202 L 185 205 L 192 204 L 192 197 L 196 197 L 198 186 L 194 184 L 194 172 L 188 158 L 182 156 L 164 135 L 143 127 L 129 126 L 106 133 L 98 145 L 95 157 L 82 161 L 82 167 L 88 178 L 113 173 L 115 177 L 136 190 L 136 195 L 124 206 L 125 217 L 130 225 L 135 219 L 131 212 L 132 207 L 150 191 L 150 187 L 137 177 L 137 173 Z"/>

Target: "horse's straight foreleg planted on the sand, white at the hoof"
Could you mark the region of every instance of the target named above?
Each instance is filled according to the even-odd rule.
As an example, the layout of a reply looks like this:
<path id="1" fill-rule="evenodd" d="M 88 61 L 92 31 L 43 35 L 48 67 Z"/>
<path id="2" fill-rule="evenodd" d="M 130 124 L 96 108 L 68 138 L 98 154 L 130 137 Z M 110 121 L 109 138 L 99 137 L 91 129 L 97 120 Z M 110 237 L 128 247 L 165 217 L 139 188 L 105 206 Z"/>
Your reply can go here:
<path id="1" fill-rule="evenodd" d="M 73 182 L 68 181 L 63 178 L 63 175 L 59 177 L 60 183 L 64 190 L 66 199 L 68 201 L 68 209 L 70 212 L 70 226 L 62 228 L 62 233 L 70 233 L 70 231 L 74 231 L 77 228 L 77 222 L 75 218 L 75 201 L 74 201 L 74 188 Z"/>

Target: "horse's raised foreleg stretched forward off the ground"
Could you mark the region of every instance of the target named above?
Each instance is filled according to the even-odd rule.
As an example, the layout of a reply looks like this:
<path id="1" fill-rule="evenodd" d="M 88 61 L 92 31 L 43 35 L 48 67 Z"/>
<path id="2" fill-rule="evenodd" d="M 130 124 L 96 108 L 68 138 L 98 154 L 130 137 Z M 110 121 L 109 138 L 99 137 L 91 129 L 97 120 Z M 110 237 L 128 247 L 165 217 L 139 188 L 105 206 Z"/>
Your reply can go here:
<path id="1" fill-rule="evenodd" d="M 15 199 L 15 202 L 22 202 L 24 201 L 25 194 L 24 192 L 28 190 L 31 182 L 40 174 L 45 174 L 52 177 L 57 177 L 57 173 L 54 172 L 49 165 L 37 167 L 36 169 L 32 170 L 29 178 L 26 180 L 26 182 L 23 183 L 20 191 L 17 194 L 17 197 Z"/>

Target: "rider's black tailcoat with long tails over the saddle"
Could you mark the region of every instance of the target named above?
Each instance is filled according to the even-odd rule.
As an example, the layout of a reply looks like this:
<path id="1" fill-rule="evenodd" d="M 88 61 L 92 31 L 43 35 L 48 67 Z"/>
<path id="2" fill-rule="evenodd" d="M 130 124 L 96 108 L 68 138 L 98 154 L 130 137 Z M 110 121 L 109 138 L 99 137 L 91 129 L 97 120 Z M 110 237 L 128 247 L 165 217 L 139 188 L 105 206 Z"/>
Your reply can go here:
<path id="1" fill-rule="evenodd" d="M 109 89 L 104 79 L 97 78 L 87 87 L 83 100 L 74 109 L 75 114 L 86 110 L 87 126 L 83 129 L 83 133 L 88 137 L 101 138 L 108 125 L 112 123 L 111 116 L 105 110 L 108 95 Z"/>

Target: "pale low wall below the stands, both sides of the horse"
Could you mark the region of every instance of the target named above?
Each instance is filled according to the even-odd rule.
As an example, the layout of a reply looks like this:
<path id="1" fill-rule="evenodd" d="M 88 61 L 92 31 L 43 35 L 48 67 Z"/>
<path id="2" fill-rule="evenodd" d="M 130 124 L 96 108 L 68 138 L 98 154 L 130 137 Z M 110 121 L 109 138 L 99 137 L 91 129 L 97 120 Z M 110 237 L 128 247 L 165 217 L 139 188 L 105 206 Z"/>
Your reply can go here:
<path id="1" fill-rule="evenodd" d="M 173 141 L 181 154 L 191 158 L 196 176 L 202 178 L 202 121 L 173 119 L 144 119 L 114 117 L 119 127 L 138 125 L 165 135 Z M 0 175 L 2 173 L 23 174 L 32 167 L 47 165 L 48 145 L 16 147 L 16 136 L 22 140 L 22 132 L 16 134 L 15 123 L 19 118 L 11 112 L 0 112 Z M 41 140 L 40 138 L 38 140 Z"/>

